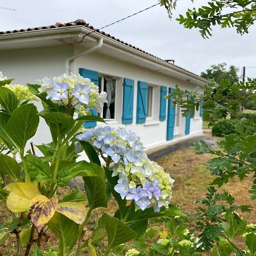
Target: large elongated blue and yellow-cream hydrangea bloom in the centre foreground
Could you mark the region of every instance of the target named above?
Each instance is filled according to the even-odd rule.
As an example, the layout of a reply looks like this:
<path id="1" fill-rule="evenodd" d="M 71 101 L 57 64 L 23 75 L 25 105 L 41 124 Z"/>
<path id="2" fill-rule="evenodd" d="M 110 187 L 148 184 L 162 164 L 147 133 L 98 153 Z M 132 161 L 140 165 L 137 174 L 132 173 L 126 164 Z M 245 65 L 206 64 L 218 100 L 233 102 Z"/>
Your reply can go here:
<path id="1" fill-rule="evenodd" d="M 134 200 L 142 210 L 153 205 L 155 212 L 168 207 L 174 179 L 148 159 L 139 137 L 124 128 L 100 126 L 76 136 L 90 141 L 106 162 L 114 162 L 112 176 L 118 176 L 114 189 L 122 199 Z M 76 142 L 76 152 L 81 152 Z M 105 157 L 106 156 L 106 157 Z"/>

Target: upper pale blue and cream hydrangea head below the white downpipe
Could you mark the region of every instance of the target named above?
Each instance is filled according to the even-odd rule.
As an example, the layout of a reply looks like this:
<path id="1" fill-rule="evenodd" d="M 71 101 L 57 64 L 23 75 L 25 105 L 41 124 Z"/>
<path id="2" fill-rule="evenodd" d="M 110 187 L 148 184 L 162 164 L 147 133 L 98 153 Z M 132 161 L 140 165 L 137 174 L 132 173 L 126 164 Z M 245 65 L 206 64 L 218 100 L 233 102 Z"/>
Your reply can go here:
<path id="1" fill-rule="evenodd" d="M 103 110 L 106 100 L 106 92 L 99 93 L 98 86 L 90 79 L 80 75 L 63 74 L 58 77 L 44 77 L 38 80 L 41 85 L 39 93 L 47 93 L 47 99 L 57 101 L 60 104 L 76 108 L 79 114 L 86 114 L 90 109 L 96 109 L 98 113 Z"/>

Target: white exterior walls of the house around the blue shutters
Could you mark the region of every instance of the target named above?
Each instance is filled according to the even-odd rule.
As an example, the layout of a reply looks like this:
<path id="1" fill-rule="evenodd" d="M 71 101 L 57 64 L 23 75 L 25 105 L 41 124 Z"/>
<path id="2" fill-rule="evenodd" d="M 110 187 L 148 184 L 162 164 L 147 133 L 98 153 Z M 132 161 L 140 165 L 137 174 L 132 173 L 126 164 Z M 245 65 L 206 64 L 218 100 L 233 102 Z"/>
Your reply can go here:
<path id="1" fill-rule="evenodd" d="M 65 71 L 65 60 L 73 55 L 73 52 L 79 52 L 81 48 L 73 46 L 57 46 L 45 48 L 33 48 L 22 50 L 11 50 L 0 52 L 0 71 L 7 77 L 15 78 L 15 83 L 26 84 L 34 83 L 36 79 L 44 76 L 59 76 Z M 87 68 L 98 71 L 101 74 L 119 77 L 118 83 L 118 117 L 117 121 L 109 122 L 110 125 L 122 126 L 122 79 L 124 77 L 135 80 L 134 86 L 134 110 L 133 123 L 126 125 L 126 129 L 132 130 L 141 137 L 141 141 L 147 148 L 166 143 L 167 120 L 159 121 L 160 106 L 160 85 L 174 87 L 179 84 L 182 89 L 192 90 L 196 85 L 189 82 L 173 79 L 166 75 L 126 63 L 113 57 L 102 55 L 101 53 L 90 53 L 76 59 L 71 65 L 74 73 L 79 72 L 79 68 Z M 146 121 L 146 123 L 136 123 L 136 104 L 137 104 L 137 82 L 145 81 L 149 84 L 158 86 L 155 88 L 159 92 L 154 98 L 154 117 L 155 122 Z M 202 89 L 203 90 L 203 89 Z M 167 104 L 167 102 L 166 102 Z M 40 107 L 39 107 L 40 108 Z M 195 115 L 196 116 L 196 115 Z M 184 135 L 185 118 L 180 117 L 180 135 Z M 191 119 L 191 134 L 199 134 L 202 130 L 201 118 Z M 175 130 L 177 133 L 177 130 Z M 48 143 L 50 141 L 48 127 L 44 121 L 40 120 L 38 133 L 32 138 L 35 144 Z"/>

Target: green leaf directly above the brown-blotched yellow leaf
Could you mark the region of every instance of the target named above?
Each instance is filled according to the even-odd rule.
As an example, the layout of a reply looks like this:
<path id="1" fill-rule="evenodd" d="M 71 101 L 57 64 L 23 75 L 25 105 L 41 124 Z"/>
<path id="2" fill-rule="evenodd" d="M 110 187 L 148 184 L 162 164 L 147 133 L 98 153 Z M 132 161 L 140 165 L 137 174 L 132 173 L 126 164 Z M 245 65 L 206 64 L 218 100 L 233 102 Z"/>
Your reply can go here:
<path id="1" fill-rule="evenodd" d="M 23 158 L 23 164 L 32 182 L 51 180 L 49 168 L 38 156 L 26 155 Z"/>

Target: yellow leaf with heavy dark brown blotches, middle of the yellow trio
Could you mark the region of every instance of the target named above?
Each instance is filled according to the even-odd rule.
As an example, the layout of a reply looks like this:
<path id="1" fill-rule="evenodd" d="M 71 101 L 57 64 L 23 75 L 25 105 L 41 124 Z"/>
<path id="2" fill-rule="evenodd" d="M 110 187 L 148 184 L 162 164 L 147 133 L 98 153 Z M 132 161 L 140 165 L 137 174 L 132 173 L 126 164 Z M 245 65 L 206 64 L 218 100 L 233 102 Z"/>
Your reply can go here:
<path id="1" fill-rule="evenodd" d="M 35 196 L 31 201 L 31 220 L 40 232 L 49 220 L 53 217 L 57 207 L 57 197 L 48 197 L 43 195 Z"/>

